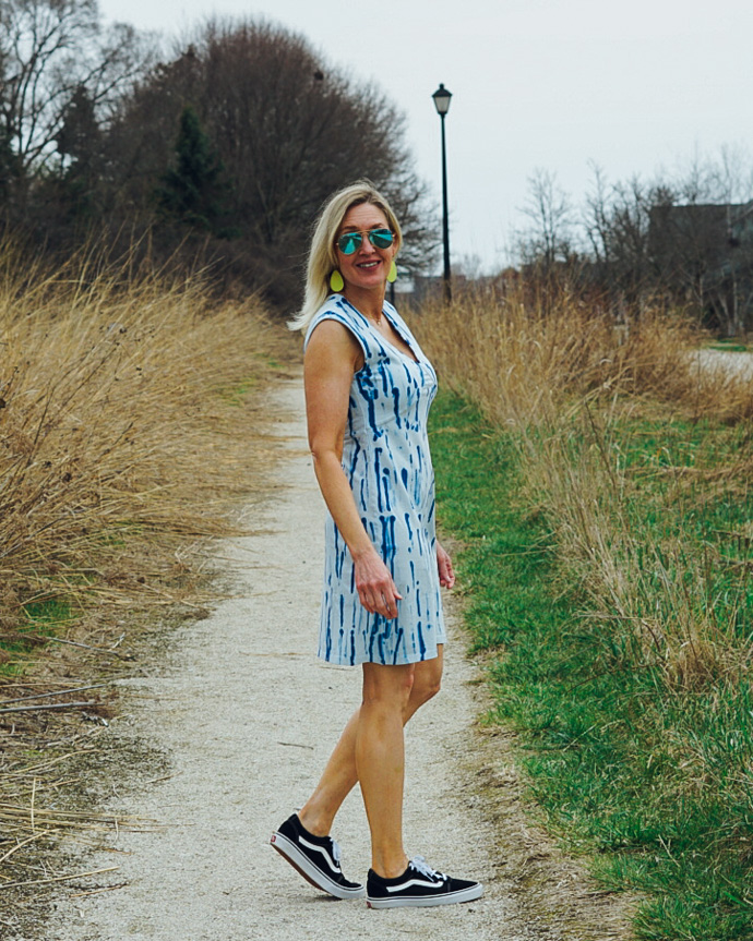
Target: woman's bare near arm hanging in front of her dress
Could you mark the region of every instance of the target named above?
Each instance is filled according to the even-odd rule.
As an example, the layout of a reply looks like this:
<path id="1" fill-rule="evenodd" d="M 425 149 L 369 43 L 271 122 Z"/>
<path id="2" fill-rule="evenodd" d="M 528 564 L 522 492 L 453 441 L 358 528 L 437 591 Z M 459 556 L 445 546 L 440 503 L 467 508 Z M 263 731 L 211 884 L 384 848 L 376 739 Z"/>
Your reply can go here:
<path id="1" fill-rule="evenodd" d="M 362 359 L 356 338 L 337 321 L 322 321 L 311 334 L 303 360 L 309 447 L 322 495 L 352 557 L 359 601 L 392 618 L 401 595 L 363 528 L 342 466 L 350 384 Z"/>

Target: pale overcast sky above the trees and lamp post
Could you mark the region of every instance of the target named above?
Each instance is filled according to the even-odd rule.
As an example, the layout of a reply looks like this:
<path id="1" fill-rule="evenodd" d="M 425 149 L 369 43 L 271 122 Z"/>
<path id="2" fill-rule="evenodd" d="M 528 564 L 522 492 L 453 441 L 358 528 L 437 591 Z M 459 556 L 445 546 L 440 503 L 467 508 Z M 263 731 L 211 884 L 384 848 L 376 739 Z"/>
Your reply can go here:
<path id="1" fill-rule="evenodd" d="M 609 181 L 753 155 L 753 0 L 100 0 L 107 19 L 179 35 L 216 14 L 302 33 L 372 79 L 408 119 L 419 173 L 441 193 L 446 118 L 451 251 L 502 264 L 536 168 L 581 202 Z M 344 181 L 346 182 L 346 181 Z M 753 193 L 751 193 L 753 198 Z"/>

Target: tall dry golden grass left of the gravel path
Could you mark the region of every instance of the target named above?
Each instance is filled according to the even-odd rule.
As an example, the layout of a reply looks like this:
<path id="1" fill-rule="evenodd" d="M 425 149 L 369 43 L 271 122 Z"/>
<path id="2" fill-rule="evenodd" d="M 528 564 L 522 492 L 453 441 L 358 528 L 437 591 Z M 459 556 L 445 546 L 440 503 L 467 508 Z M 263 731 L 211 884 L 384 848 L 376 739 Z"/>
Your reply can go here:
<path id="1" fill-rule="evenodd" d="M 201 601 L 205 539 L 241 531 L 288 343 L 199 278 L 0 248 L 0 889 L 59 878 L 41 847 L 108 824 L 80 812 L 76 762 L 101 747 L 144 611 Z"/>

